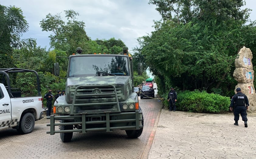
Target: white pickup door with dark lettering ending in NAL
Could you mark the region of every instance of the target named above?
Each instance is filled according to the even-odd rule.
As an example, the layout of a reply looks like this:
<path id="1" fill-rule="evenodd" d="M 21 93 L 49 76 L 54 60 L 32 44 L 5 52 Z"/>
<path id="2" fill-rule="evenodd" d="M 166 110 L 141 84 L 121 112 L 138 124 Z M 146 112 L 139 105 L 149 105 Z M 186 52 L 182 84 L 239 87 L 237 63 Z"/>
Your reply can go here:
<path id="1" fill-rule="evenodd" d="M 0 85 L 0 130 L 8 129 L 12 119 L 10 97 L 4 85 Z"/>

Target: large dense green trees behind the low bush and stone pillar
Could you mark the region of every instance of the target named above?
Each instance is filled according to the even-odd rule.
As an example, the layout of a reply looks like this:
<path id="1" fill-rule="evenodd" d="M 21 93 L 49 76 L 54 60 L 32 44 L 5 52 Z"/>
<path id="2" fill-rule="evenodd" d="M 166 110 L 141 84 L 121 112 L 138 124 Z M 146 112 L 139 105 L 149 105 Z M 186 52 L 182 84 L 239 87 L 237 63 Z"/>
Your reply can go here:
<path id="1" fill-rule="evenodd" d="M 163 20 L 155 22 L 150 35 L 138 38 L 136 50 L 145 57 L 143 62 L 157 79 L 158 90 L 164 93 L 176 86 L 232 96 L 237 84 L 233 77 L 237 52 L 246 46 L 256 53 L 255 23 L 246 25 L 250 10 L 241 9 L 244 1 L 149 3 L 157 5 Z"/>

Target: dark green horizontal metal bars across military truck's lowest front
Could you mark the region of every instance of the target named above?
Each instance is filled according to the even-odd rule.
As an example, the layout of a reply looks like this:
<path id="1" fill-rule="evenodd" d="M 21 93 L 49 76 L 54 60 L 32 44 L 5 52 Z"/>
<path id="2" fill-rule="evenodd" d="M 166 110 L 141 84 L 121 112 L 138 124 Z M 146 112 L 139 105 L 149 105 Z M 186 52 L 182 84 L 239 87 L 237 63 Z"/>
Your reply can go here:
<path id="1" fill-rule="evenodd" d="M 105 112 L 104 114 L 87 114 L 82 113 L 81 115 L 67 115 L 67 116 L 54 116 L 51 115 L 47 117 L 50 119 L 50 131 L 47 131 L 47 134 L 54 135 L 55 133 L 70 133 L 70 132 L 81 132 L 86 133 L 88 131 L 99 131 L 99 130 L 106 130 L 107 132 L 111 132 L 112 130 L 121 129 L 121 130 L 138 130 L 143 126 L 140 125 L 142 121 L 142 117 L 140 117 L 142 111 L 136 110 L 135 112 L 126 112 L 126 113 L 110 113 Z M 124 115 L 135 115 L 135 119 L 120 119 L 120 120 L 110 120 L 111 116 L 124 116 Z M 86 117 L 102 117 L 106 116 L 106 120 L 103 121 L 86 121 Z M 55 123 L 55 120 L 74 120 L 74 118 L 81 118 L 82 121 L 79 122 L 69 122 L 69 123 Z M 134 126 L 119 126 L 119 127 L 110 127 L 110 123 L 127 123 L 127 122 L 136 122 Z M 62 126 L 62 125 L 78 125 L 81 124 L 81 129 L 72 129 L 72 130 L 55 130 L 55 126 Z M 106 124 L 106 127 L 96 127 L 96 128 L 86 128 L 88 124 Z"/>

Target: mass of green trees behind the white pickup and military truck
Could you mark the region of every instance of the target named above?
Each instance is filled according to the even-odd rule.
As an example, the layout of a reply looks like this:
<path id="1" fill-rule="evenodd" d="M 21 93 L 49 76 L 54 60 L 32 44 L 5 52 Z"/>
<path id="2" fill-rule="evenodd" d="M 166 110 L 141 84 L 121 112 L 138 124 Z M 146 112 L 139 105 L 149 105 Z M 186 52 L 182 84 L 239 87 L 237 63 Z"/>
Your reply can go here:
<path id="1" fill-rule="evenodd" d="M 60 13 L 57 15 L 49 13 L 45 19 L 40 21 L 42 31 L 51 32 L 49 36 L 51 50 L 46 50 L 46 48 L 37 46 L 36 39 L 20 40 L 22 33 L 28 30 L 28 23 L 20 8 L 0 5 L 0 66 L 1 68 L 36 70 L 40 76 L 42 95 L 48 92 L 46 86 L 53 90 L 53 94 L 56 94 L 57 90 L 65 89 L 65 79 L 54 76 L 53 64 L 56 56 L 68 57 L 75 53 L 77 47 L 83 49 L 83 54 L 94 52 L 118 54 L 125 46 L 122 40 L 115 38 L 91 40 L 85 32 L 85 23 L 77 21 L 79 13 L 73 10 L 64 12 L 67 22 L 62 19 Z M 59 58 L 57 62 L 60 63 L 60 76 L 65 78 L 67 60 Z M 138 76 L 137 65 L 134 69 L 134 76 Z M 146 73 L 134 78 L 135 85 L 140 84 L 146 78 L 148 78 Z M 11 85 L 20 88 L 22 96 L 34 96 L 36 86 L 32 79 L 34 80 L 30 76 L 15 74 L 11 77 Z"/>

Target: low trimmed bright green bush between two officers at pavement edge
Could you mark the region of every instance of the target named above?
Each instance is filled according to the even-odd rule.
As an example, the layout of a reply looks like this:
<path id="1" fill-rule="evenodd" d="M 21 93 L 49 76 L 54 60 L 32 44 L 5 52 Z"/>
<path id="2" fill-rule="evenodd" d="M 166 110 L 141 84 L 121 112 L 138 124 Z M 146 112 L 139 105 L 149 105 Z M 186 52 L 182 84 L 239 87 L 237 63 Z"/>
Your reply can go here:
<path id="1" fill-rule="evenodd" d="M 229 111 L 230 98 L 205 91 L 179 92 L 177 110 L 195 113 L 223 113 Z"/>

